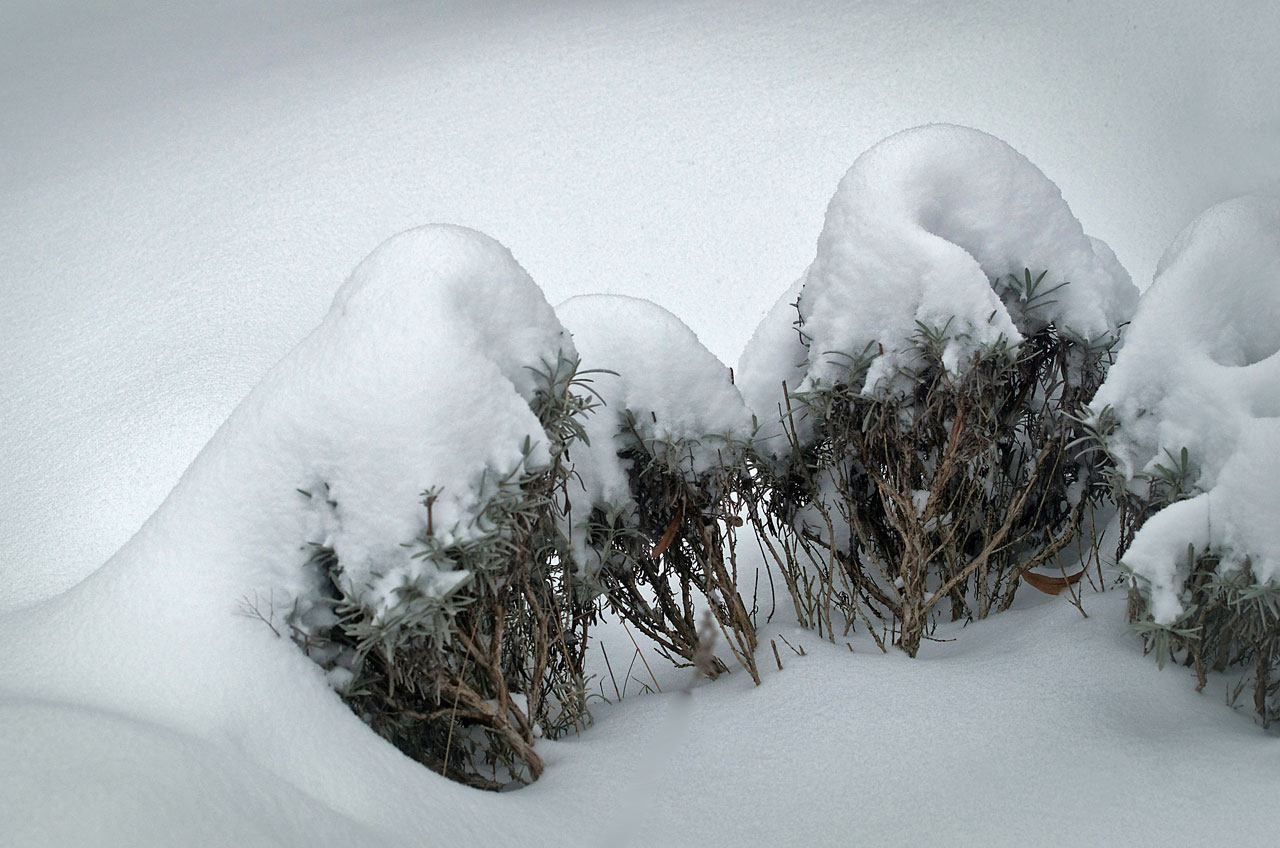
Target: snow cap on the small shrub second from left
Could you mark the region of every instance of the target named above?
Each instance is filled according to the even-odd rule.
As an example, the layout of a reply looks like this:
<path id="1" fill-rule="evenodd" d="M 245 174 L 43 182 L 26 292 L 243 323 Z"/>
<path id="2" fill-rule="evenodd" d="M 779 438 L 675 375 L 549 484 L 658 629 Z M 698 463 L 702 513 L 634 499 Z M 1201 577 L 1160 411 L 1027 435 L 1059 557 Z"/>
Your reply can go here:
<path id="1" fill-rule="evenodd" d="M 620 439 L 639 438 L 655 455 L 680 450 L 672 461 L 691 478 L 736 460 L 751 437 L 751 415 L 728 366 L 684 322 L 622 295 L 572 297 L 556 314 L 572 333 L 582 368 L 613 371 L 593 375 L 604 407 L 585 421 L 590 446 L 573 448 L 582 506 L 631 505 Z M 635 432 L 626 433 L 631 421 Z"/>

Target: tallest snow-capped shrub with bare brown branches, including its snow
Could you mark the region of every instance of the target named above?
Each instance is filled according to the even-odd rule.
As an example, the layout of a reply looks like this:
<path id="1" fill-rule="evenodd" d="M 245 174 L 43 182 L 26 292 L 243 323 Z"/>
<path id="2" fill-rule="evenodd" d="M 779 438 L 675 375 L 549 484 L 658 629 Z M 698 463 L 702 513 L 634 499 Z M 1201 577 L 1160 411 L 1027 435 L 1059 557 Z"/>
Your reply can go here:
<path id="1" fill-rule="evenodd" d="M 739 364 L 801 621 L 870 610 L 914 655 L 941 601 L 1006 607 L 1085 518 L 1075 416 L 1135 300 L 1009 145 L 929 126 L 863 154 Z"/>

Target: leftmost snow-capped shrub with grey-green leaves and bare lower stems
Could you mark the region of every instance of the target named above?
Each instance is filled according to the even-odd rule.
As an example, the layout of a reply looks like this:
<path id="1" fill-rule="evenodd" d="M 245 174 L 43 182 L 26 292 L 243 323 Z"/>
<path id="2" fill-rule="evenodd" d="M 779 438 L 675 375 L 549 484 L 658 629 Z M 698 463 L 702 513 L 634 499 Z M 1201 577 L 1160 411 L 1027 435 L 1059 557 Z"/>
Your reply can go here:
<path id="1" fill-rule="evenodd" d="M 535 739 L 589 719 L 566 489 L 590 375 L 511 254 L 461 228 L 389 240 L 332 314 L 342 343 L 312 365 L 367 373 L 315 405 L 288 625 L 404 753 L 483 788 L 534 780 Z"/>

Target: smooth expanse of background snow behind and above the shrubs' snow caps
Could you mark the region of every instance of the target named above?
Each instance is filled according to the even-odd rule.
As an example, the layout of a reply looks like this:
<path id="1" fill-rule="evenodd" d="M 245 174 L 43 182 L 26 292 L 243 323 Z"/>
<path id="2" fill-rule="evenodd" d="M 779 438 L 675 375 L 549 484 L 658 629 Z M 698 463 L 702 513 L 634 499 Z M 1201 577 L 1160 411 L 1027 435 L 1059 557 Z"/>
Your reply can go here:
<path id="1" fill-rule="evenodd" d="M 646 297 L 732 364 L 854 158 L 951 122 L 1146 283 L 1280 191 L 1277 31 L 1268 0 L 0 4 L 0 608 L 128 541 L 392 233 L 474 227 L 550 302 Z"/>

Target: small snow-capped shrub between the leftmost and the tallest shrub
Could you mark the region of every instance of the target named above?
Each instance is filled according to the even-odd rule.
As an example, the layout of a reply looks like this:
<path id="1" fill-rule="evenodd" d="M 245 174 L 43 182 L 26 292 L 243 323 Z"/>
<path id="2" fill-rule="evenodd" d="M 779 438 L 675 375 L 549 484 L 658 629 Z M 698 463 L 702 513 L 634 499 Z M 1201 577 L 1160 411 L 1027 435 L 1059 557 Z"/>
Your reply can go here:
<path id="1" fill-rule="evenodd" d="M 739 592 L 735 528 L 751 416 L 732 375 L 678 318 L 645 300 L 575 297 L 557 309 L 581 356 L 605 369 L 570 488 L 575 551 L 608 607 L 678 665 L 705 660 L 709 611 L 759 683 L 754 603 Z"/>

